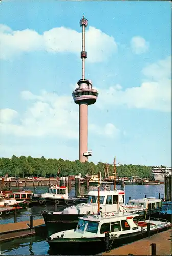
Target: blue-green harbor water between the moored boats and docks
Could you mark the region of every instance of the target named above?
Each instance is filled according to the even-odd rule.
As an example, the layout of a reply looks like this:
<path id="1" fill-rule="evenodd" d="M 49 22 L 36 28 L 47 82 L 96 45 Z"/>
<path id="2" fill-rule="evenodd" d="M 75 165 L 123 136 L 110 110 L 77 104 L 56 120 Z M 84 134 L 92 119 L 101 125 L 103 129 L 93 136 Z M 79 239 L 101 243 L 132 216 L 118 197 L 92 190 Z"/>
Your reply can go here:
<path id="1" fill-rule="evenodd" d="M 113 188 L 113 186 L 111 186 Z M 121 189 L 120 185 L 116 186 L 117 189 Z M 19 188 L 21 189 L 21 188 Z M 28 189 L 34 191 L 34 187 L 28 187 Z M 47 191 L 48 187 L 37 187 L 36 193 L 42 193 Z M 88 191 L 84 190 L 84 187 L 81 188 L 82 193 L 85 194 Z M 90 187 L 89 190 L 95 190 L 96 187 Z M 161 198 L 164 196 L 164 185 L 132 185 L 125 186 L 125 203 L 127 203 L 128 198 L 137 199 L 147 197 L 156 197 L 161 195 Z M 70 196 L 75 195 L 75 187 L 69 191 Z M 58 210 L 62 210 L 65 207 L 59 207 Z M 33 219 L 41 219 L 41 211 L 53 211 L 53 207 L 42 207 L 42 206 L 33 206 L 27 208 L 20 212 L 17 215 L 17 222 L 26 221 L 30 219 L 30 216 L 33 216 Z M 13 223 L 14 216 L 8 216 L 6 218 L 0 219 L 0 224 Z M 1 226 L 0 226 L 1 227 Z M 17 238 L 8 242 L 2 242 L 0 245 L 1 255 L 50 255 L 52 254 L 49 250 L 48 243 L 37 236 L 27 237 L 27 238 Z"/>

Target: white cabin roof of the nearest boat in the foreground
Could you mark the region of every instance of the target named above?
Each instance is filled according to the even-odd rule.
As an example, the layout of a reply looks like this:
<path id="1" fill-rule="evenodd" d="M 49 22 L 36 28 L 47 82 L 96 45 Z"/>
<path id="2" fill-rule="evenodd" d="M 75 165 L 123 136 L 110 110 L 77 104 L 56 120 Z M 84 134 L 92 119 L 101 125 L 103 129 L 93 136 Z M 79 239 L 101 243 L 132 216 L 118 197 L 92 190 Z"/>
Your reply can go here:
<path id="1" fill-rule="evenodd" d="M 115 221 L 132 219 L 133 217 L 137 217 L 137 216 L 139 216 L 139 214 L 116 211 L 116 212 L 109 212 L 102 215 L 82 216 L 82 217 L 79 217 L 78 219 L 85 220 L 85 221 L 106 223 L 108 221 L 115 222 Z"/>

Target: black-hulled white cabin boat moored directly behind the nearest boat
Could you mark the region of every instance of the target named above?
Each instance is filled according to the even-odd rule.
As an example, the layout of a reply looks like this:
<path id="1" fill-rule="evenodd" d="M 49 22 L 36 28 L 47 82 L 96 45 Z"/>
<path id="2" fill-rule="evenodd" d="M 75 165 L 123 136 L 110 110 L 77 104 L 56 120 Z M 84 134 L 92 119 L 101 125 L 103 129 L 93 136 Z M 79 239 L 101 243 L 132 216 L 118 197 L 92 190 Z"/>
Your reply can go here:
<path id="1" fill-rule="evenodd" d="M 161 210 L 162 200 L 156 198 L 132 199 L 125 205 L 125 192 L 111 190 L 109 186 L 101 187 L 99 203 L 101 212 L 139 212 L 140 218 L 146 214 L 155 214 Z M 97 212 L 98 191 L 89 191 L 88 201 L 65 208 L 63 211 L 42 212 L 48 234 L 76 228 L 78 217 Z"/>

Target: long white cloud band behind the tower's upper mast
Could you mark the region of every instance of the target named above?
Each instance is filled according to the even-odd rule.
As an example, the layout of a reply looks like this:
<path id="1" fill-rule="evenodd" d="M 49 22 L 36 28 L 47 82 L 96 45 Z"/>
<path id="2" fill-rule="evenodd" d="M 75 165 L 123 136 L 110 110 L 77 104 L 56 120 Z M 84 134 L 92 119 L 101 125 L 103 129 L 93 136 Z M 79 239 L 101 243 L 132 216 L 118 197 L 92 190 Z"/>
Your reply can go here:
<path id="1" fill-rule="evenodd" d="M 86 50 L 89 62 L 102 62 L 117 50 L 112 36 L 95 27 L 86 30 Z M 80 55 L 81 32 L 59 27 L 45 31 L 42 35 L 31 29 L 12 31 L 6 25 L 0 25 L 0 58 L 9 60 L 21 53 L 45 50 L 47 52 L 69 52 Z"/>

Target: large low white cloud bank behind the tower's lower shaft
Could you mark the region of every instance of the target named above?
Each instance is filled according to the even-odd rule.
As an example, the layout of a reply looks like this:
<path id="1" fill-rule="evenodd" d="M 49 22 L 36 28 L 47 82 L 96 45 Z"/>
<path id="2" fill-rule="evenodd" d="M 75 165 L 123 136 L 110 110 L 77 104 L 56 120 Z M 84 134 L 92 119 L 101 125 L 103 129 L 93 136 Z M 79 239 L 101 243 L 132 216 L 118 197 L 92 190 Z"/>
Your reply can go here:
<path id="1" fill-rule="evenodd" d="M 44 90 L 41 91 L 40 95 L 34 95 L 30 91 L 22 91 L 21 97 L 23 100 L 31 101 L 31 105 L 23 115 L 19 115 L 12 109 L 2 109 L 0 120 L 2 134 L 22 137 L 49 135 L 78 139 L 79 109 L 71 96 L 59 96 Z M 91 126 L 92 128 L 97 127 L 94 124 Z M 95 132 L 95 129 L 91 130 Z M 113 124 L 107 124 L 104 128 L 98 127 L 98 134 L 104 136 L 113 137 L 117 132 L 118 129 Z"/>

